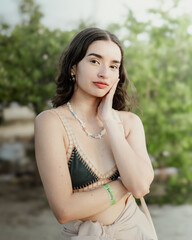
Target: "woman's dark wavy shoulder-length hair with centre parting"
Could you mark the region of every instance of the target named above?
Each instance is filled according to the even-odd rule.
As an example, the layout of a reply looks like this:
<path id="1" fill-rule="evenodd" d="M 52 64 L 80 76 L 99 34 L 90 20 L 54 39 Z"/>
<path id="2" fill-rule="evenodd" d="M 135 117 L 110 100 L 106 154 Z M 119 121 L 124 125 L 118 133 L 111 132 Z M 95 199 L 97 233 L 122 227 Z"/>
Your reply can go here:
<path id="1" fill-rule="evenodd" d="M 89 45 L 98 40 L 112 41 L 120 48 L 122 55 L 119 68 L 120 81 L 113 97 L 113 108 L 116 110 L 129 110 L 128 106 L 131 97 L 128 96 L 126 90 L 130 82 L 124 67 L 121 43 L 114 34 L 99 28 L 86 28 L 79 32 L 61 55 L 56 77 L 56 96 L 51 99 L 53 107 L 59 107 L 71 99 L 75 86 L 75 82 L 71 79 L 71 69 L 84 58 Z"/>

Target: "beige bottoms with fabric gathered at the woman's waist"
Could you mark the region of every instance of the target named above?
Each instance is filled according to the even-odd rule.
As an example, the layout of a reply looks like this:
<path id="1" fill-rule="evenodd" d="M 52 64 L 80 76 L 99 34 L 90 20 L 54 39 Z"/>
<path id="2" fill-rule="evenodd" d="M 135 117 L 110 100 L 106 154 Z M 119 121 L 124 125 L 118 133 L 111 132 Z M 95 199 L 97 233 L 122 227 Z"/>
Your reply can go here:
<path id="1" fill-rule="evenodd" d="M 153 228 L 131 195 L 124 211 L 111 225 L 71 221 L 63 224 L 62 240 L 156 240 Z"/>

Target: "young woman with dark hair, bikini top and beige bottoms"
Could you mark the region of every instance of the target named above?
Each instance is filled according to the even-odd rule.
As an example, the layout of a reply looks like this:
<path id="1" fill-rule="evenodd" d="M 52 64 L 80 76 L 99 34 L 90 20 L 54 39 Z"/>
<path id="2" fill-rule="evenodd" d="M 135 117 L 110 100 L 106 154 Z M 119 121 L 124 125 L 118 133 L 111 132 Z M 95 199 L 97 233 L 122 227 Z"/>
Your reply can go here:
<path id="1" fill-rule="evenodd" d="M 35 152 L 63 239 L 156 239 L 135 198 L 154 177 L 140 118 L 127 109 L 117 37 L 78 33 L 64 52 L 53 108 L 35 119 Z"/>

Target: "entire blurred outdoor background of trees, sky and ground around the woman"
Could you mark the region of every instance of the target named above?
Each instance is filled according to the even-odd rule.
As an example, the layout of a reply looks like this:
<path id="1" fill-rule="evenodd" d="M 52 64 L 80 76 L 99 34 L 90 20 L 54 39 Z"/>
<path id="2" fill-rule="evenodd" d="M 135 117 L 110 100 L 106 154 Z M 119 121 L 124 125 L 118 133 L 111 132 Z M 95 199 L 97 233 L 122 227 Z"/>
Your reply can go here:
<path id="1" fill-rule="evenodd" d="M 0 0 L 0 239 L 60 239 L 34 155 L 61 52 L 85 27 L 122 42 L 155 169 L 146 196 L 159 240 L 192 235 L 190 0 Z M 130 89 L 128 89 L 130 91 Z"/>

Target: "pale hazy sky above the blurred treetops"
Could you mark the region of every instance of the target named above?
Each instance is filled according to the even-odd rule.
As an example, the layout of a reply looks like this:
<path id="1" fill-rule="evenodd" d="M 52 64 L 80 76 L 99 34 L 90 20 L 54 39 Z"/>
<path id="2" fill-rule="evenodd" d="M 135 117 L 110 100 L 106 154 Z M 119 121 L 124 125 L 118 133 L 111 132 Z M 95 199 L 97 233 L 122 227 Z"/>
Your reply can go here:
<path id="1" fill-rule="evenodd" d="M 0 0 L 0 21 L 11 25 L 19 22 L 18 5 L 20 0 Z M 88 23 L 97 23 L 105 28 L 110 23 L 121 23 L 126 17 L 127 8 L 134 11 L 140 20 L 147 20 L 147 9 L 158 8 L 160 0 L 35 0 L 44 14 L 42 23 L 50 29 L 71 30 L 77 27 L 80 19 Z M 164 0 L 163 7 L 168 8 L 173 0 Z M 192 13 L 192 1 L 181 0 L 174 14 Z M 158 19 L 154 19 L 157 21 Z"/>

